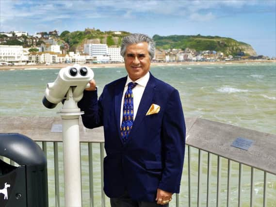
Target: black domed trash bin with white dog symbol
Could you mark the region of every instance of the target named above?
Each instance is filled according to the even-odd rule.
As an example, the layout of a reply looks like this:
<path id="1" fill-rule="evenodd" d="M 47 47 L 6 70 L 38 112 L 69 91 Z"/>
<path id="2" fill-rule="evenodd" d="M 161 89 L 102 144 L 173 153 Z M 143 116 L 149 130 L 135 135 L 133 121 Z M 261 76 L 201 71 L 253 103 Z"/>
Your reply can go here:
<path id="1" fill-rule="evenodd" d="M 47 159 L 30 138 L 0 133 L 0 207 L 48 207 Z"/>

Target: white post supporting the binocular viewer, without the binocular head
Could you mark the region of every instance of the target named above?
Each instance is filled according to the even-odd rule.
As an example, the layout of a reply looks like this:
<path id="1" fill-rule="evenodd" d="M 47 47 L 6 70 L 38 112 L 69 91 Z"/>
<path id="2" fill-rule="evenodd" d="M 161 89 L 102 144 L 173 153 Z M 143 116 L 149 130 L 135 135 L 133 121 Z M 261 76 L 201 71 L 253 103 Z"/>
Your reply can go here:
<path id="1" fill-rule="evenodd" d="M 81 111 L 69 88 L 59 112 L 63 125 L 65 207 L 81 207 L 81 153 L 79 118 Z"/>

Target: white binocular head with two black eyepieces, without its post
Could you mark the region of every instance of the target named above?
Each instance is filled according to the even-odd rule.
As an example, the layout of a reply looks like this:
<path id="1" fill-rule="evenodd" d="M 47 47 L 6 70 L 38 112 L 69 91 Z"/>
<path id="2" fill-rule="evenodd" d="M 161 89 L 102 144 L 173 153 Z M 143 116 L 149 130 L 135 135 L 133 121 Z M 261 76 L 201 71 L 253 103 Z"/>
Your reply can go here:
<path id="1" fill-rule="evenodd" d="M 75 64 L 62 68 L 54 82 L 48 83 L 42 103 L 48 109 L 53 109 L 66 98 L 70 87 L 73 88 L 73 98 L 76 102 L 83 96 L 85 87 L 94 77 L 93 71 L 87 66 Z"/>

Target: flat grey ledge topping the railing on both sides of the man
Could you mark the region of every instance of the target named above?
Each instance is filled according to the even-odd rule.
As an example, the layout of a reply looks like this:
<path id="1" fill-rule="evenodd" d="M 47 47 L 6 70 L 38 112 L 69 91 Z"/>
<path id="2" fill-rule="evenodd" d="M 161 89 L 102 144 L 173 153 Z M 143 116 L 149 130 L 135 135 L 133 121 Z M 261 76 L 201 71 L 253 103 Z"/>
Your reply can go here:
<path id="1" fill-rule="evenodd" d="M 185 121 L 187 144 L 276 175 L 275 134 L 196 117 Z M 53 124 L 62 124 L 60 117 L 0 117 L 0 123 L 0 133 L 17 132 L 34 141 L 62 142 L 61 132 L 51 132 Z M 238 137 L 254 141 L 248 151 L 231 146 Z M 80 141 L 103 143 L 103 128 L 87 129 L 80 120 Z"/>

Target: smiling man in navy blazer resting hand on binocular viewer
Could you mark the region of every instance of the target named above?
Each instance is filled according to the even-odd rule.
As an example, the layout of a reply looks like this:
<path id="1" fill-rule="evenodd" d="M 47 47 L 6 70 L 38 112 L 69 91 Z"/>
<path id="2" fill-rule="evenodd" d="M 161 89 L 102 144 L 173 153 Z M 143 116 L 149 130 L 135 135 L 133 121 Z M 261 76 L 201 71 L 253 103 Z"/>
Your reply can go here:
<path id="1" fill-rule="evenodd" d="M 168 207 L 179 192 L 184 115 L 178 91 L 149 72 L 154 53 L 148 36 L 125 37 L 128 76 L 107 84 L 98 100 L 91 81 L 79 102 L 84 126 L 104 127 L 104 191 L 112 207 Z"/>

